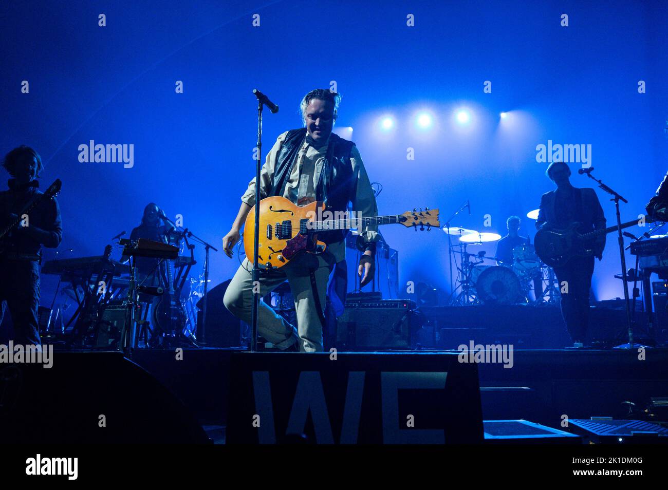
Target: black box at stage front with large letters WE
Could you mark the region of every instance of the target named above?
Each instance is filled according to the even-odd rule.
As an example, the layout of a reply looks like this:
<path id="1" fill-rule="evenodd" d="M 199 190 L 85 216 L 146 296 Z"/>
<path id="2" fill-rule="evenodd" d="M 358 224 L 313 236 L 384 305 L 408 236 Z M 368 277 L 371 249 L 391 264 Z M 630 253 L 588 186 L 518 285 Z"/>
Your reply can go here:
<path id="1" fill-rule="evenodd" d="M 456 354 L 236 352 L 227 443 L 482 443 L 478 369 Z"/>

